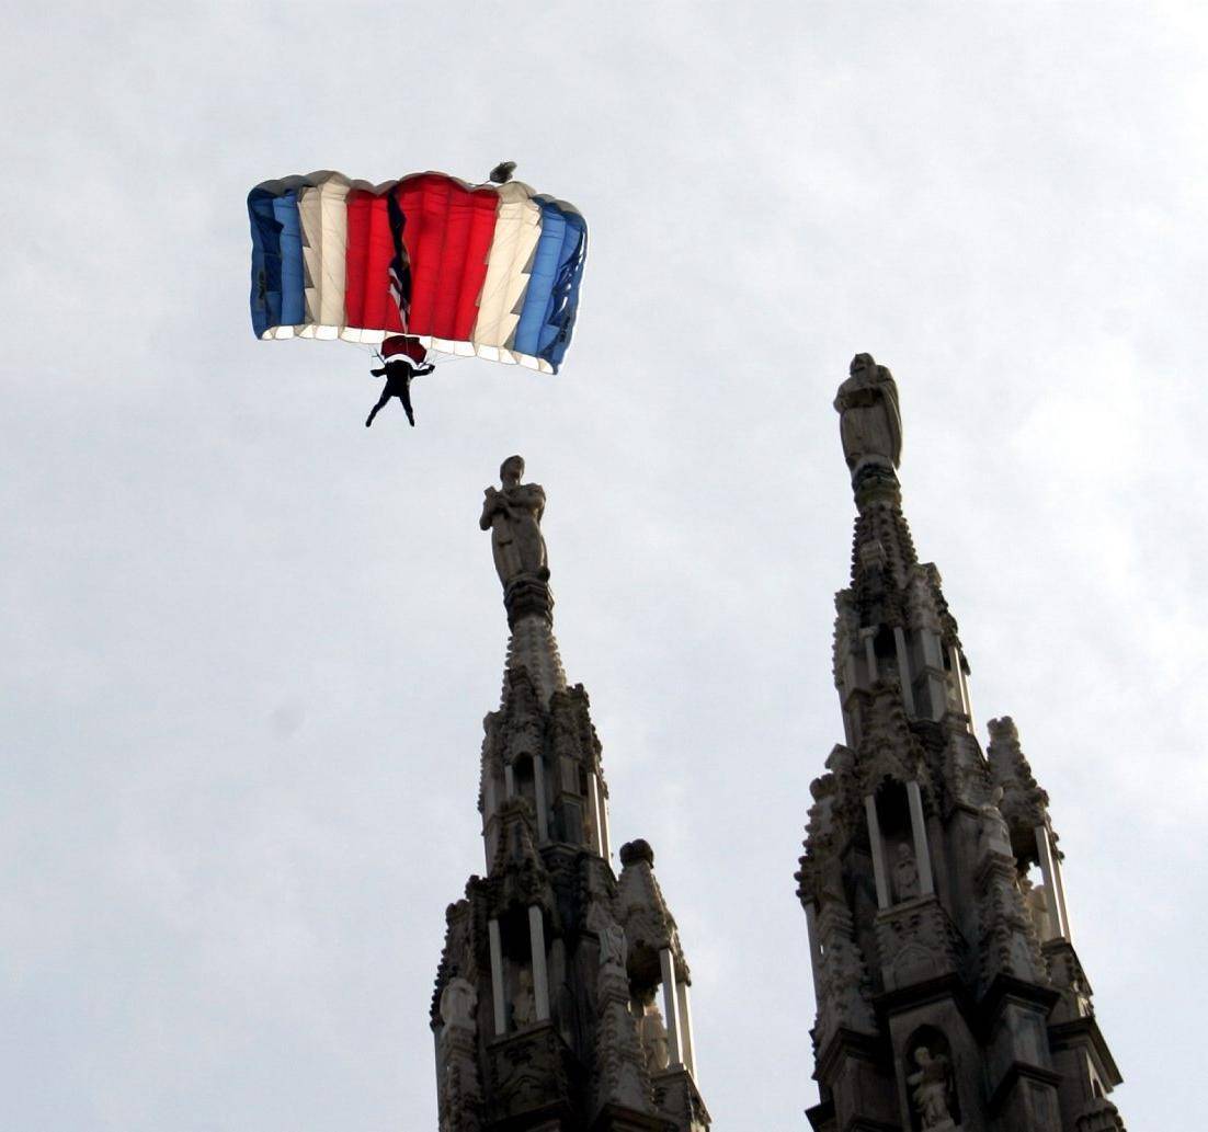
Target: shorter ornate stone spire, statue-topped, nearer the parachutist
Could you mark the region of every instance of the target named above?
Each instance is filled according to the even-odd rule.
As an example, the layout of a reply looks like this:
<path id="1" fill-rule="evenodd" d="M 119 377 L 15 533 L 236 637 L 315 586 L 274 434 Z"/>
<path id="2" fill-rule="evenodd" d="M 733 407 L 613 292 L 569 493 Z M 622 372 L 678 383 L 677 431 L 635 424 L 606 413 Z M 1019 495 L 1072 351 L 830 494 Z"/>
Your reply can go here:
<path id="1" fill-rule="evenodd" d="M 611 865 L 582 685 L 553 638 L 545 492 L 510 457 L 487 488 L 511 642 L 483 721 L 487 875 L 446 912 L 431 1026 L 441 1132 L 708 1132 L 691 973 L 644 841 Z"/>

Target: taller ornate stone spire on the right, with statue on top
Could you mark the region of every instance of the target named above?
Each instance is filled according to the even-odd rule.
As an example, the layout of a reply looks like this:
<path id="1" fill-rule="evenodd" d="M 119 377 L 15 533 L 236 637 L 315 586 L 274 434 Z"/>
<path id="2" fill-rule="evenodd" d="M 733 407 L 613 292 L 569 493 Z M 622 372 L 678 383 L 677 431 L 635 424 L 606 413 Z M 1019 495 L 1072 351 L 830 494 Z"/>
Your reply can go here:
<path id="1" fill-rule="evenodd" d="M 811 786 L 797 873 L 818 998 L 811 1124 L 1122 1132 L 1049 796 L 1010 719 L 982 754 L 957 622 L 901 511 L 898 387 L 858 354 L 835 407 L 859 513 L 835 598 L 846 742 Z"/>

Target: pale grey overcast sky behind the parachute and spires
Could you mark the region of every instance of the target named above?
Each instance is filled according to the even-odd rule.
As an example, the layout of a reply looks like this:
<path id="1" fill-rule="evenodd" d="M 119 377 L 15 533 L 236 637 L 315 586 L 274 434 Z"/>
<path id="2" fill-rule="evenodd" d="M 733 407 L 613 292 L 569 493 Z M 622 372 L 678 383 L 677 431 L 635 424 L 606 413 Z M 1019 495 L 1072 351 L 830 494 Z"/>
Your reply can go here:
<path id="1" fill-rule="evenodd" d="M 831 399 L 898 378 L 906 512 L 1052 799 L 1129 1127 L 1198 1130 L 1208 19 L 1198 5 L 30 4 L 0 35 L 0 1125 L 435 1128 L 506 622 L 647 838 L 719 1132 L 817 1090 L 808 784 L 842 738 Z M 577 204 L 563 372 L 255 339 L 244 198 L 316 168 Z"/>

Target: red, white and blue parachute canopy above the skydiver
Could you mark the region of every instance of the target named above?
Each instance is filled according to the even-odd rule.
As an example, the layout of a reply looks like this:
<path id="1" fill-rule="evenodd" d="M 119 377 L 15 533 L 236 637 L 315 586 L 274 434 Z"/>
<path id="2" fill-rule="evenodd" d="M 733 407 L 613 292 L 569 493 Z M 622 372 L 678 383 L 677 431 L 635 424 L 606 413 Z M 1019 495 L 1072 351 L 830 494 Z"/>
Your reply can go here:
<path id="1" fill-rule="evenodd" d="M 381 343 L 557 373 L 570 344 L 587 225 L 528 185 L 417 173 L 371 186 L 321 172 L 248 195 L 260 338 Z"/>

